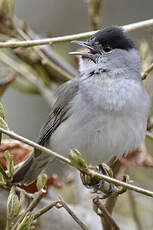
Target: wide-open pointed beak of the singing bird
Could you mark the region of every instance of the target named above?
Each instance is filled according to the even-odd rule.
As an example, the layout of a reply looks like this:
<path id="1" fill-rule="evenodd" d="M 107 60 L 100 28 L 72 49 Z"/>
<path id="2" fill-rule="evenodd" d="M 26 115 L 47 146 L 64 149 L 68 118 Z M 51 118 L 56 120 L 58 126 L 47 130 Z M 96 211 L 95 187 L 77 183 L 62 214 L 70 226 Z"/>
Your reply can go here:
<path id="1" fill-rule="evenodd" d="M 81 55 L 82 57 L 90 58 L 94 61 L 94 55 L 97 53 L 97 51 L 88 43 L 84 41 L 72 41 L 72 43 L 75 43 L 77 45 L 83 46 L 85 48 L 89 49 L 89 52 L 69 52 L 71 55 Z"/>

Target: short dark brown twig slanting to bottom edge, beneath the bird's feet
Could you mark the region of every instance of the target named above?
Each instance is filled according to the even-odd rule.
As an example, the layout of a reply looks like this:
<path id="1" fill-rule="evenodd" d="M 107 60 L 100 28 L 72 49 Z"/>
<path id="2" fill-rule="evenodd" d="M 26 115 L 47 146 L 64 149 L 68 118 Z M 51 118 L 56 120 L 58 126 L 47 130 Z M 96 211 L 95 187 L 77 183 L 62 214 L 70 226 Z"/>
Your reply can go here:
<path id="1" fill-rule="evenodd" d="M 104 207 L 104 205 L 100 202 L 99 198 L 94 198 L 93 203 L 97 206 L 97 208 L 100 210 L 97 214 L 101 216 L 101 218 L 104 218 L 107 221 L 107 228 L 105 227 L 104 230 L 119 230 L 120 228 L 116 224 L 116 222 L 111 217 L 110 213 L 107 211 L 107 209 Z"/>

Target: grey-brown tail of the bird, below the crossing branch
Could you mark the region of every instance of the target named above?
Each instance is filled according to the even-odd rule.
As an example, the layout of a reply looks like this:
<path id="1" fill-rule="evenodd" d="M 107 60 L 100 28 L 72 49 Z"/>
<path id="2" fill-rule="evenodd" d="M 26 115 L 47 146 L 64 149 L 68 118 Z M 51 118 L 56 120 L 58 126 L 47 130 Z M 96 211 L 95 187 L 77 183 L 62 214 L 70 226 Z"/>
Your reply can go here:
<path id="1" fill-rule="evenodd" d="M 49 156 L 45 153 L 35 150 L 15 172 L 13 183 L 31 184 L 46 167 Z"/>

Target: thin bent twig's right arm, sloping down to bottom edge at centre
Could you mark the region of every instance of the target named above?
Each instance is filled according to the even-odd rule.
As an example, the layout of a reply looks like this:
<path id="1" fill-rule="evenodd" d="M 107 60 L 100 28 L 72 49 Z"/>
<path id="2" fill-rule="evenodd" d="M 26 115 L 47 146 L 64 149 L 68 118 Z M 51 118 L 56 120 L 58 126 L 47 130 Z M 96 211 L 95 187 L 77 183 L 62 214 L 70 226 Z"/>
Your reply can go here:
<path id="1" fill-rule="evenodd" d="M 83 229 L 88 230 L 88 228 L 84 225 L 84 223 L 74 214 L 74 212 L 69 208 L 69 206 L 64 202 L 64 200 L 59 197 L 59 203 L 62 205 L 63 208 L 72 216 L 76 223 Z"/>

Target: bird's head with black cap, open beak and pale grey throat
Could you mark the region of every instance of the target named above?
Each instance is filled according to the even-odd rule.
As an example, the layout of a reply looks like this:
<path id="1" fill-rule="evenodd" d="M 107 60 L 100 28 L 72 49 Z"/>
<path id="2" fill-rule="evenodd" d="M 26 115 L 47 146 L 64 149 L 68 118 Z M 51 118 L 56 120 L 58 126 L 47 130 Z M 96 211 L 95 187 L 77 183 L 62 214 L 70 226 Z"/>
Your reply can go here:
<path id="1" fill-rule="evenodd" d="M 72 42 L 87 48 L 84 52 L 70 53 L 81 56 L 81 74 L 88 75 L 98 70 L 110 73 L 131 70 L 140 73 L 141 61 L 134 42 L 120 27 L 107 27 L 95 33 L 88 41 Z"/>

